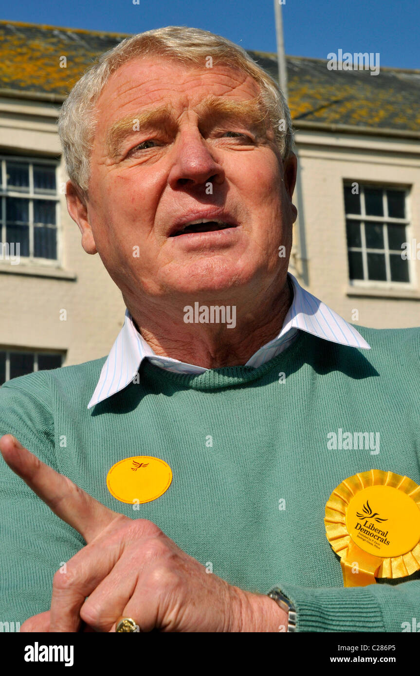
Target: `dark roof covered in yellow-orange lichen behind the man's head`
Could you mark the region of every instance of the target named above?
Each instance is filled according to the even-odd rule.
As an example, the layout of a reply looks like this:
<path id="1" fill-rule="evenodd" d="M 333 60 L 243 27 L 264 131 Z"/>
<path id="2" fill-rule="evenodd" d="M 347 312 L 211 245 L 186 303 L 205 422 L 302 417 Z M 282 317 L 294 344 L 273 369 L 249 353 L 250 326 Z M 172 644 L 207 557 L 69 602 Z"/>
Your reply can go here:
<path id="1" fill-rule="evenodd" d="M 80 28 L 39 26 L 0 20 L 0 89 L 51 94 L 60 100 L 95 59 L 126 34 Z M 277 57 L 250 55 L 273 78 Z M 60 57 L 66 57 L 62 68 Z M 420 130 L 420 71 L 383 68 L 370 72 L 331 72 L 325 59 L 286 57 L 292 118 L 328 124 L 350 124 Z"/>

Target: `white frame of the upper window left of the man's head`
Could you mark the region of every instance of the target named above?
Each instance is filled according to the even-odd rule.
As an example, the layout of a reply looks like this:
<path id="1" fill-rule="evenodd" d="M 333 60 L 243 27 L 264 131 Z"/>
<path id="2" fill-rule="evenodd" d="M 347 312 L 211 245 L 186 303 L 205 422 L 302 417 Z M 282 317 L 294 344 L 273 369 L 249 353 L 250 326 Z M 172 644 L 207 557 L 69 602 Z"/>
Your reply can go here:
<path id="1" fill-rule="evenodd" d="M 25 162 L 29 165 L 29 191 L 13 191 L 7 189 L 6 185 L 6 162 Z M 1 181 L 0 181 L 0 241 L 4 243 L 6 239 L 6 214 L 5 214 L 5 197 L 24 198 L 29 200 L 29 250 L 34 249 L 34 218 L 33 218 L 33 201 L 34 199 L 46 199 L 55 202 L 55 233 L 57 242 L 57 258 L 39 258 L 38 256 L 20 256 L 19 265 L 37 266 L 45 268 L 62 268 L 62 227 L 61 227 L 61 198 L 59 192 L 58 171 L 60 168 L 60 160 L 55 158 L 38 158 L 36 155 L 8 155 L 0 152 L 1 163 Z M 55 171 L 55 195 L 47 193 L 35 193 L 33 183 L 33 166 L 34 164 L 45 164 L 53 166 Z M 16 252 L 15 252 L 16 254 Z M 3 263 L 0 260 L 0 264 Z"/>

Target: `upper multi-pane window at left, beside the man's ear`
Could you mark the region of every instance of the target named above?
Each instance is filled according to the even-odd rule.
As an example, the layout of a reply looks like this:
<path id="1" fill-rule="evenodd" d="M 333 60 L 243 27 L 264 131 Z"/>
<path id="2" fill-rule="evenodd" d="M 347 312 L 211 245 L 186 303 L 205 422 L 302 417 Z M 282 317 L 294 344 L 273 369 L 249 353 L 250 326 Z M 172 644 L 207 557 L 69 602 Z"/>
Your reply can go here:
<path id="1" fill-rule="evenodd" d="M 57 262 L 56 165 L 11 157 L 0 164 L 1 241 L 20 258 Z"/>

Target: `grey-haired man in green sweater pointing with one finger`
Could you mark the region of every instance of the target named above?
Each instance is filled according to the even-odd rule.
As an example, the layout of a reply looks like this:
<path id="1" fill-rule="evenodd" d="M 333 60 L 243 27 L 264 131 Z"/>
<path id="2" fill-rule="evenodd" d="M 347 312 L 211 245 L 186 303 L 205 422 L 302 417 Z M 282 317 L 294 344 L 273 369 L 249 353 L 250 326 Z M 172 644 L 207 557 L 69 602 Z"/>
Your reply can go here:
<path id="1" fill-rule="evenodd" d="M 341 568 L 325 533 L 340 507 L 324 518 L 355 475 L 420 483 L 420 333 L 359 333 L 287 273 L 296 156 L 277 85 L 233 43 L 170 26 L 103 55 L 59 131 L 68 211 L 127 310 L 108 358 L 1 388 L 0 619 L 401 631 L 420 557 Z M 337 448 L 343 430 L 375 443 Z M 368 534 L 392 518 L 369 500 Z"/>

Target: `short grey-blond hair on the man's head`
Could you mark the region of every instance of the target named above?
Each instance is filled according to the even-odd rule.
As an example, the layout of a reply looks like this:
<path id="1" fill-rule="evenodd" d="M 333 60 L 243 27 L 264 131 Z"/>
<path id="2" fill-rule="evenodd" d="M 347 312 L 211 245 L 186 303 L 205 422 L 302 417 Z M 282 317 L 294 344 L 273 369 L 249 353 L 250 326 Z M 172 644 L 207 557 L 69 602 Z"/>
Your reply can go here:
<path id="1" fill-rule="evenodd" d="M 283 160 L 294 149 L 289 107 L 279 86 L 246 53 L 245 49 L 208 30 L 187 26 L 165 26 L 128 37 L 101 54 L 83 77 L 74 84 L 62 105 L 58 134 L 62 143 L 66 170 L 72 183 L 87 195 L 90 160 L 97 125 L 95 104 L 108 79 L 120 66 L 146 54 L 175 59 L 183 64 L 202 66 L 212 57 L 217 63 L 239 68 L 260 85 L 260 101 L 275 135 Z"/>

